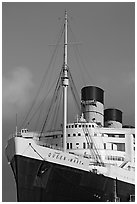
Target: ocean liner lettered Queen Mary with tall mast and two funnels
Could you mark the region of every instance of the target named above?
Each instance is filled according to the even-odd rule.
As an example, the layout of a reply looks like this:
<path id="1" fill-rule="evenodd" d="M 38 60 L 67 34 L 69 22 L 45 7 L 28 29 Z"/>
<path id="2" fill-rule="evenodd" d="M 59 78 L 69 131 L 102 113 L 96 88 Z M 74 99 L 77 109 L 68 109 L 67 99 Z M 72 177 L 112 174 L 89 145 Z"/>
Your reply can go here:
<path id="1" fill-rule="evenodd" d="M 63 66 L 53 95 L 56 101 L 62 87 L 60 129 L 45 131 L 46 118 L 39 132 L 16 128 L 6 146 L 17 201 L 135 201 L 135 129 L 122 126 L 120 110 L 104 109 L 104 90 L 83 87 L 80 115 L 67 122 L 67 89 L 73 80 L 66 11 L 63 34 Z"/>

